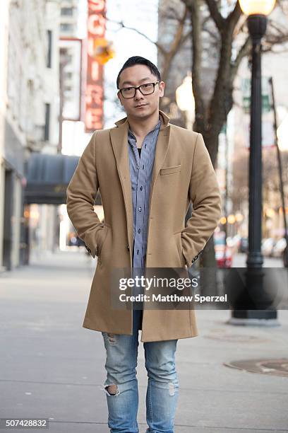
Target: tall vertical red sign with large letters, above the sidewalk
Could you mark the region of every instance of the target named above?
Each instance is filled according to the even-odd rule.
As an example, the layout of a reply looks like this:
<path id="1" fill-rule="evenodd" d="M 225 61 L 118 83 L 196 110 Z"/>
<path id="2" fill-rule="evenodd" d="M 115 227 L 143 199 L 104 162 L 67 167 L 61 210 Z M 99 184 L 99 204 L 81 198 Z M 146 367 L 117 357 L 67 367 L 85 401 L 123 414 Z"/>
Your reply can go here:
<path id="1" fill-rule="evenodd" d="M 88 59 L 85 93 L 85 131 L 103 127 L 103 66 L 93 58 L 94 43 L 105 33 L 105 0 L 88 0 Z"/>

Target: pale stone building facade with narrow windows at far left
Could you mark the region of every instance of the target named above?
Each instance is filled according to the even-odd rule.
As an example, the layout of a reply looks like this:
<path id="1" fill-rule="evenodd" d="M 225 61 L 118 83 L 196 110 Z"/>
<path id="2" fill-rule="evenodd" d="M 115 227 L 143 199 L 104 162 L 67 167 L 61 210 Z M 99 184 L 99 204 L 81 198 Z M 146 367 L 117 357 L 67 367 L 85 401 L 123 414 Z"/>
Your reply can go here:
<path id="1" fill-rule="evenodd" d="M 0 266 L 25 261 L 25 170 L 32 151 L 52 153 L 58 143 L 59 1 L 1 2 Z"/>

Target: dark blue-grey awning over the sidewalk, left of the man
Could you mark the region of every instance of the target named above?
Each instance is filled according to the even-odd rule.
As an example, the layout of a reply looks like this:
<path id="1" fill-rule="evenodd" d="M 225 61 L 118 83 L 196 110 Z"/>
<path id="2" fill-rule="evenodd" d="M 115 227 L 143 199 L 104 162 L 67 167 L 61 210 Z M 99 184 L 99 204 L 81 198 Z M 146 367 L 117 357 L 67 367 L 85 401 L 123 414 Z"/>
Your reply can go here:
<path id="1" fill-rule="evenodd" d="M 32 153 L 28 160 L 25 204 L 66 203 L 66 189 L 78 161 L 78 156 Z M 95 204 L 101 204 L 99 192 Z"/>

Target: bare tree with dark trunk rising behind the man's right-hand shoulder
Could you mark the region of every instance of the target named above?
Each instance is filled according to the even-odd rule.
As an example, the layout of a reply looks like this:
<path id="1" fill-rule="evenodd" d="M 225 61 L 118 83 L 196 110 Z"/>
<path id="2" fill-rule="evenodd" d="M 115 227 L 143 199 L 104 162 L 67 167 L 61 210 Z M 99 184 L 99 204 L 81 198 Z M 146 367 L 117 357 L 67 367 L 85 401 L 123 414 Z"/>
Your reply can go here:
<path id="1" fill-rule="evenodd" d="M 195 98 L 196 117 L 193 129 L 203 134 L 205 145 L 210 154 L 213 166 L 217 163 L 218 137 L 227 122 L 227 115 L 234 105 L 234 80 L 239 65 L 251 52 L 251 39 L 248 35 L 246 18 L 241 12 L 238 1 L 230 1 L 227 16 L 222 15 L 220 1 L 215 0 L 181 0 L 163 1 L 160 14 L 162 19 L 172 21 L 169 28 L 169 43 L 155 43 L 162 63 L 162 78 L 169 79 L 174 68 L 173 60 L 188 42 L 191 47 L 191 72 L 193 96 Z M 160 3 L 161 4 L 161 3 Z M 182 7 L 181 7 L 182 5 Z M 278 0 L 277 7 L 287 13 L 287 1 Z M 119 25 L 126 27 L 124 23 Z M 137 29 L 133 29 L 138 32 Z M 138 32 L 140 33 L 140 32 Z M 145 34 L 141 33 L 144 37 Z M 148 37 L 146 37 L 149 39 Z M 208 41 L 208 44 L 207 44 Z M 205 42 L 205 43 L 204 43 Z M 268 21 L 268 30 L 263 41 L 263 52 L 273 52 L 285 47 L 288 42 L 287 25 Z M 213 59 L 212 86 L 206 88 L 203 74 L 203 56 Z M 170 88 L 173 95 L 175 88 Z M 166 103 L 174 102 L 168 98 Z M 208 241 L 201 263 L 205 266 L 215 265 L 215 253 L 212 237 Z"/>

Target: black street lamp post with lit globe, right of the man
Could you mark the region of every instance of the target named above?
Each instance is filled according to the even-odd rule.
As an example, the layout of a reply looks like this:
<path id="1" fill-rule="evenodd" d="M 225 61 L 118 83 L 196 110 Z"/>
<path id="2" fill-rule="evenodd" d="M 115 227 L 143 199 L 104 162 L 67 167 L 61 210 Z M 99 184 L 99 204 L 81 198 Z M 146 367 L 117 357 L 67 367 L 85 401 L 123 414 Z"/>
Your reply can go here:
<path id="1" fill-rule="evenodd" d="M 261 38 L 265 34 L 267 16 L 275 5 L 275 0 L 239 0 L 242 11 L 248 15 L 248 31 L 252 40 L 251 77 L 251 125 L 249 158 L 249 219 L 248 255 L 246 260 L 246 296 L 244 308 L 232 311 L 232 323 L 248 324 L 255 321 L 268 321 L 272 324 L 277 311 L 265 309 L 263 302 L 263 255 L 262 238 L 262 92 L 261 92 Z M 251 294 L 258 299 L 258 309 L 251 302 Z M 253 296 L 254 301 L 255 297 Z M 242 305 L 243 306 L 243 305 Z M 251 321 L 252 319 L 252 321 Z"/>

